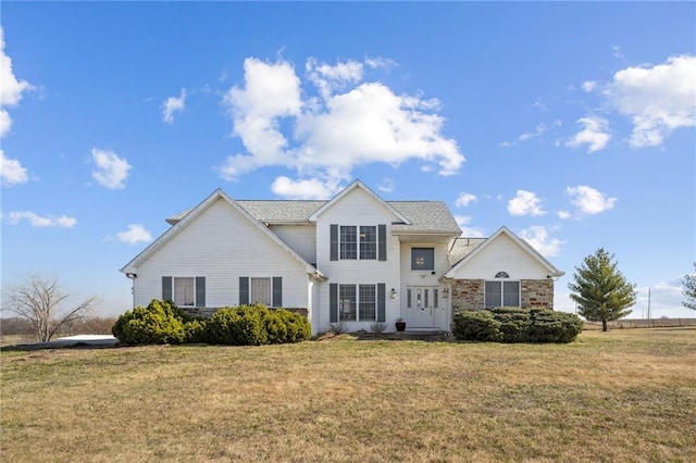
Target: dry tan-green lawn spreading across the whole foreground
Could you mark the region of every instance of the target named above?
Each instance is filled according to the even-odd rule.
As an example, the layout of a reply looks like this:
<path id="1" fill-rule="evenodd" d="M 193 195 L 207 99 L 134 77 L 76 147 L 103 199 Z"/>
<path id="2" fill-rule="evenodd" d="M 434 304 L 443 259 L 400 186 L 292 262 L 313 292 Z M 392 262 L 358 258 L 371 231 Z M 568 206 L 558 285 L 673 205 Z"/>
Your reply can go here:
<path id="1" fill-rule="evenodd" d="M 696 329 L 2 352 L 3 461 L 696 461 Z"/>

